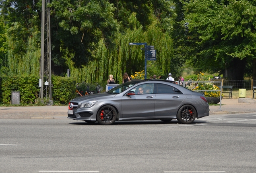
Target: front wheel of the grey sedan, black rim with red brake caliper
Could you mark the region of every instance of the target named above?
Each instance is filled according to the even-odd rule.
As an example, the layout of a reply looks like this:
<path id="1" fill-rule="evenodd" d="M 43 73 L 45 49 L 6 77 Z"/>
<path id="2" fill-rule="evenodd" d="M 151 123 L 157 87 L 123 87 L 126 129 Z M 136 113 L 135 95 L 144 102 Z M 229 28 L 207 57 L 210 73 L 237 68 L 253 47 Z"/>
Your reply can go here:
<path id="1" fill-rule="evenodd" d="M 96 119 L 101 125 L 112 125 L 117 117 L 116 109 L 110 105 L 106 105 L 99 109 Z"/>

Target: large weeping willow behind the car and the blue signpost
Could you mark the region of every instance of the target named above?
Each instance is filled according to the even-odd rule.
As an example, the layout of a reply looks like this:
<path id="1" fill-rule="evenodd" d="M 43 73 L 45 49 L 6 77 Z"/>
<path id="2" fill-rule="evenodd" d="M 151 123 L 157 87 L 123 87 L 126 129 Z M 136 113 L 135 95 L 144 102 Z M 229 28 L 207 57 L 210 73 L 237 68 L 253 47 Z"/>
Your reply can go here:
<path id="1" fill-rule="evenodd" d="M 135 16 L 131 20 L 136 20 Z M 168 74 L 171 68 L 175 68 L 174 64 L 170 63 L 173 55 L 173 43 L 169 34 L 163 33 L 161 28 L 155 24 L 149 26 L 147 30 L 143 30 L 142 26 L 136 24 L 133 28 L 133 30 L 127 29 L 125 34 L 118 34 L 114 48 L 108 49 L 101 40 L 95 53 L 95 60 L 83 68 L 74 68 L 74 62 L 66 56 L 71 76 L 75 77 L 78 83 L 85 81 L 106 84 L 109 74 L 113 74 L 116 82 L 122 83 L 124 72 L 131 75 L 145 70 L 144 51 L 140 49 L 144 46 L 131 46 L 129 42 L 147 42 L 148 45 L 154 45 L 157 50 L 155 64 L 163 73 Z"/>

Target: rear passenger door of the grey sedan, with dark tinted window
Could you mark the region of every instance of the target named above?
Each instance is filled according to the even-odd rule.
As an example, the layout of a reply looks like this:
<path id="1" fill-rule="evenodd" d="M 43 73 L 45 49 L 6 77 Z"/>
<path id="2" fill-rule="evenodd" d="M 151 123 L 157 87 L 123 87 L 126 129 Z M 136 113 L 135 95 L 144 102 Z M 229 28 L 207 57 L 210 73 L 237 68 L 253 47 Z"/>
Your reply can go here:
<path id="1" fill-rule="evenodd" d="M 177 108 L 184 100 L 181 91 L 167 84 L 157 84 L 155 89 L 155 116 L 176 116 Z"/>

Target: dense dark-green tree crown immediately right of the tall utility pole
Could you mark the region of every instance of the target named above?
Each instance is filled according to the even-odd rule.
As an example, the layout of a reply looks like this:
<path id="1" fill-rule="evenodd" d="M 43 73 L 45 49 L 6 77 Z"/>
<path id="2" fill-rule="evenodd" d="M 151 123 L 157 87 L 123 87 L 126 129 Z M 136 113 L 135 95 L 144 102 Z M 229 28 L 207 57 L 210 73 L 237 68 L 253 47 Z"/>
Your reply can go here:
<path id="1" fill-rule="evenodd" d="M 109 46 L 118 32 L 114 5 L 107 0 L 52 0 L 52 60 L 65 66 L 61 50 L 73 54 L 74 66 L 81 67 L 95 59 L 94 51 L 100 39 Z"/>

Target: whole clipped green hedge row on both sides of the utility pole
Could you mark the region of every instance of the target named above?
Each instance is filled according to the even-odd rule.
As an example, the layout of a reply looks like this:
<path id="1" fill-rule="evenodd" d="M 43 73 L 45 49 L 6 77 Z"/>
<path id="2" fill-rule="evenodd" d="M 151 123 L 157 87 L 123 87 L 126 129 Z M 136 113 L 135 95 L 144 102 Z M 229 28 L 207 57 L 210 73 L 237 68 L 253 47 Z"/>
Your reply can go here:
<path id="1" fill-rule="evenodd" d="M 39 102 L 38 76 L 2 76 L 0 77 L 0 103 L 10 104 L 12 91 L 20 92 L 20 104 Z M 54 105 L 65 105 L 76 95 L 74 78 L 52 76 L 52 100 Z"/>

